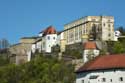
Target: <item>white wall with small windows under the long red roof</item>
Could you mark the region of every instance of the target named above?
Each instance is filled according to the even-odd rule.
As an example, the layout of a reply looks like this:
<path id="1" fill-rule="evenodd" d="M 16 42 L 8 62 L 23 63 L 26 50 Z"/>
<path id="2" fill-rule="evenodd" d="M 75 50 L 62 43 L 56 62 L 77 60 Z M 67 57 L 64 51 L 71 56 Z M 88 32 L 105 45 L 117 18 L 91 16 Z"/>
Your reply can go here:
<path id="1" fill-rule="evenodd" d="M 98 77 L 96 79 L 90 79 L 91 76 Z M 123 77 L 123 81 L 120 81 L 120 77 Z M 103 78 L 106 79 L 105 82 L 102 81 Z M 80 73 L 77 74 L 76 83 L 125 83 L 125 69 Z"/>

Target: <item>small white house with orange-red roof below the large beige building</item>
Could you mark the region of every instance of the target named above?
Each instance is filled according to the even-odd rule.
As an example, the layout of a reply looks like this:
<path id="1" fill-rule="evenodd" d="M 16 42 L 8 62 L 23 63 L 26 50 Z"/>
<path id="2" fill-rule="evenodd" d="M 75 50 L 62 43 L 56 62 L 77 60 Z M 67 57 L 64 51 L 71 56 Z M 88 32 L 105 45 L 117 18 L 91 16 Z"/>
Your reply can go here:
<path id="1" fill-rule="evenodd" d="M 90 59 L 99 55 L 99 50 L 97 49 L 96 43 L 94 41 L 88 41 L 84 43 L 83 50 L 83 61 L 87 62 Z"/>

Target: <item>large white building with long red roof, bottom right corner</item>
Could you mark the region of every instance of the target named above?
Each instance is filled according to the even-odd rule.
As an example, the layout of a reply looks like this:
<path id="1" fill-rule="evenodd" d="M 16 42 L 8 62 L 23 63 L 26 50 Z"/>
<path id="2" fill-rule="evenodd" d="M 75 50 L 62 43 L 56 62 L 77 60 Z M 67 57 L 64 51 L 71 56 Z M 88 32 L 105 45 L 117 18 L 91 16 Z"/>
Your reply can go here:
<path id="1" fill-rule="evenodd" d="M 125 54 L 96 57 L 76 71 L 76 83 L 125 83 Z"/>

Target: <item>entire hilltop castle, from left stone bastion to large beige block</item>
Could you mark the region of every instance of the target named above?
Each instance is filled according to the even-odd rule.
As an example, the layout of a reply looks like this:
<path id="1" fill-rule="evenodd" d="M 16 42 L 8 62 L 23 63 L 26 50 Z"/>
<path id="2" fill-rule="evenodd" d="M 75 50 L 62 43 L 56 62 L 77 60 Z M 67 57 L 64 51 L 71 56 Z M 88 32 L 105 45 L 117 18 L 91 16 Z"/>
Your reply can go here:
<path id="1" fill-rule="evenodd" d="M 66 46 L 68 45 L 96 40 L 114 41 L 114 17 L 82 17 L 78 20 L 65 24 L 64 30 L 61 32 L 57 32 L 53 26 L 49 26 L 45 30 L 42 30 L 36 37 L 21 38 L 19 44 L 15 44 L 10 47 L 10 56 L 16 59 L 16 63 L 19 63 L 18 61 L 20 59 L 21 61 L 24 60 L 26 62 L 31 60 L 32 54 L 36 51 L 42 53 L 52 53 L 52 47 L 59 45 L 60 52 L 62 53 L 66 51 Z M 91 49 L 87 49 L 85 54 L 88 54 L 88 50 Z"/>

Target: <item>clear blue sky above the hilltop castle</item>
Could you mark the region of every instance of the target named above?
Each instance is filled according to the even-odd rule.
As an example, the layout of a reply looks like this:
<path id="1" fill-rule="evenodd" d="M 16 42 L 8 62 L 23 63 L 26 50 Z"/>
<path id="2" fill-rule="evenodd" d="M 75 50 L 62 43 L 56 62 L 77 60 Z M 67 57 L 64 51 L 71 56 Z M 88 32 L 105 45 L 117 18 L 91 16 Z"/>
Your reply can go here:
<path id="1" fill-rule="evenodd" d="M 84 16 L 109 15 L 125 27 L 125 0 L 0 0 L 0 39 L 11 44 L 53 25 L 57 31 Z"/>

